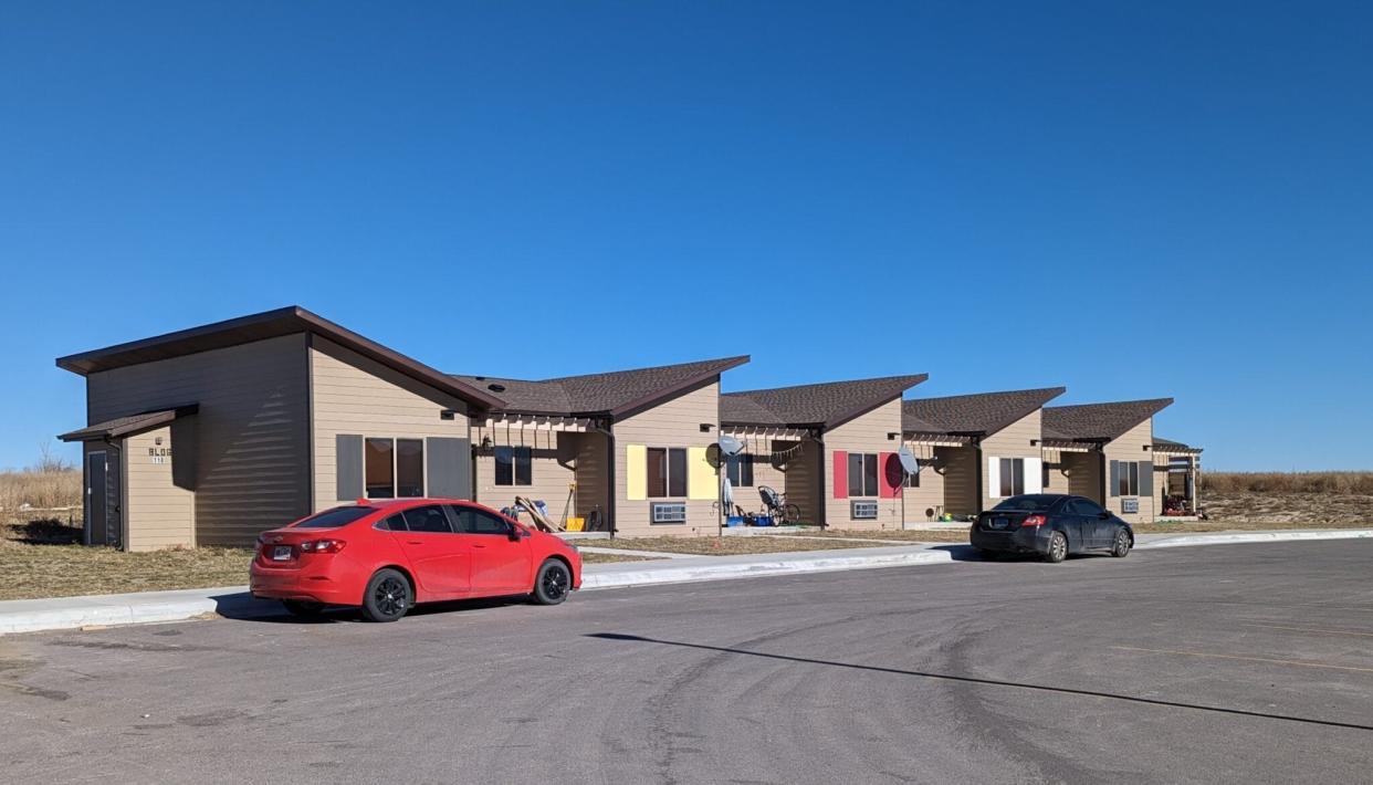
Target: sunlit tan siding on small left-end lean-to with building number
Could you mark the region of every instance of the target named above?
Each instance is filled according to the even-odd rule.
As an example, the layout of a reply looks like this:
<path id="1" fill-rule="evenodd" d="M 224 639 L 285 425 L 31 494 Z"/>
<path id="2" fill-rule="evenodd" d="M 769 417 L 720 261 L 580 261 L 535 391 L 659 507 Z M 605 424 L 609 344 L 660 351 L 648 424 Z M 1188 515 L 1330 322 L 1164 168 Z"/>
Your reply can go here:
<path id="1" fill-rule="evenodd" d="M 185 460 L 189 461 L 194 442 L 187 441 L 180 449 L 177 445 L 170 425 L 129 436 L 124 442 L 128 550 L 195 546 L 195 493 L 177 487 L 173 478 L 178 450 L 184 450 Z M 169 450 L 172 454 L 166 454 Z"/>

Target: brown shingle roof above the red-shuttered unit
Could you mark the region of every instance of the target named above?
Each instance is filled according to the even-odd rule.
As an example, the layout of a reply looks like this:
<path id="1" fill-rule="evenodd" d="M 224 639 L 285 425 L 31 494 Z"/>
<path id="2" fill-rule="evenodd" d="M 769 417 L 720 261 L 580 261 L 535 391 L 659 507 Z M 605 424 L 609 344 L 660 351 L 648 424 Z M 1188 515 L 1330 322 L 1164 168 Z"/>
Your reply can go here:
<path id="1" fill-rule="evenodd" d="M 719 397 L 719 421 L 724 425 L 833 428 L 899 398 L 928 377 L 914 373 L 728 392 Z"/>

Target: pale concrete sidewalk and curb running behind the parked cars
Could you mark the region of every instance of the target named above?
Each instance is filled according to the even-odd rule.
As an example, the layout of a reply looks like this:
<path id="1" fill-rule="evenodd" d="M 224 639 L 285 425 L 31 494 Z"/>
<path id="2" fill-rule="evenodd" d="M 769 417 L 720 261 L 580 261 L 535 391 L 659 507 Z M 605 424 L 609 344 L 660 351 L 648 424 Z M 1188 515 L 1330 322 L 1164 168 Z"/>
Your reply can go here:
<path id="1" fill-rule="evenodd" d="M 1373 538 L 1373 528 L 1141 534 L 1137 548 L 1144 550 L 1193 545 L 1361 538 Z M 656 583 L 732 581 L 768 575 L 802 575 L 809 572 L 949 564 L 954 560 L 976 560 L 976 554 L 968 545 L 917 543 L 892 548 L 702 556 L 662 561 L 621 561 L 588 564 L 582 572 L 582 589 L 625 589 Z M 281 613 L 284 611 L 277 602 L 250 597 L 247 586 L 140 591 L 135 594 L 103 594 L 96 597 L 59 597 L 52 600 L 10 600 L 0 602 L 0 635 L 40 630 L 180 622 L 206 615 L 251 619 Z"/>

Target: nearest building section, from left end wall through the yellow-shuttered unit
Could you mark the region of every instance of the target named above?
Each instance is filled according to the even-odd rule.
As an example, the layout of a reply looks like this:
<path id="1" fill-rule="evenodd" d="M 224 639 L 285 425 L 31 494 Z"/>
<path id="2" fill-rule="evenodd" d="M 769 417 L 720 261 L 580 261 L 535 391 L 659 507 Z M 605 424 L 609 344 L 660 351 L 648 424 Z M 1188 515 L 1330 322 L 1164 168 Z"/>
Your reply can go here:
<path id="1" fill-rule="evenodd" d="M 542 500 L 622 534 L 715 531 L 729 357 L 552 379 L 442 373 L 302 307 L 58 360 L 86 380 L 86 541 L 250 545 L 358 498 Z"/>

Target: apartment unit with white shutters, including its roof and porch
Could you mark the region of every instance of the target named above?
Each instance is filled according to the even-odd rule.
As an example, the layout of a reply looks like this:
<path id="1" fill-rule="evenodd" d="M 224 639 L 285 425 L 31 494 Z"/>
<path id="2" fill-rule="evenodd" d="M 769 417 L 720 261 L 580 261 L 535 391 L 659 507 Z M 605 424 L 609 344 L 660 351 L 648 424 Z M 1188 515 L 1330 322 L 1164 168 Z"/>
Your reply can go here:
<path id="1" fill-rule="evenodd" d="M 945 513 L 962 520 L 1006 497 L 1048 490 L 1041 413 L 1064 391 L 1046 387 L 905 401 L 903 438 L 921 462 L 913 478 L 919 490 L 908 490 L 912 501 L 920 501 L 916 520 L 938 520 Z"/>

